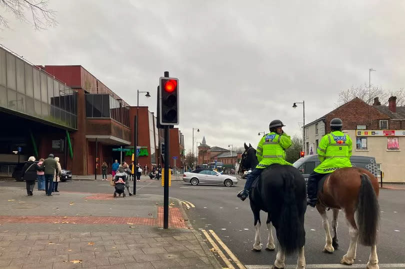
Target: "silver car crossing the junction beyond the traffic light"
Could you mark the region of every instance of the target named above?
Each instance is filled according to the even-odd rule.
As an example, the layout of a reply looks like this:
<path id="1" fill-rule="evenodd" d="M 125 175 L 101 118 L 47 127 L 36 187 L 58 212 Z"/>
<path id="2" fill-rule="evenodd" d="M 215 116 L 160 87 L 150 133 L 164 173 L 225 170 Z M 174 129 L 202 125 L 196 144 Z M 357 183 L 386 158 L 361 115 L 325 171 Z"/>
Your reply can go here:
<path id="1" fill-rule="evenodd" d="M 237 184 L 237 179 L 229 175 L 221 175 L 210 169 L 196 169 L 191 172 L 185 172 L 183 182 L 189 182 L 191 185 L 198 184 L 220 184 L 231 187 Z"/>

